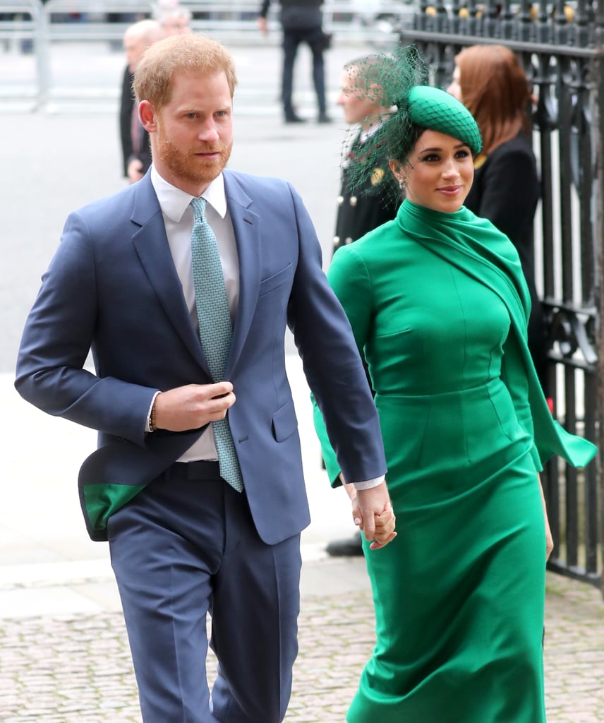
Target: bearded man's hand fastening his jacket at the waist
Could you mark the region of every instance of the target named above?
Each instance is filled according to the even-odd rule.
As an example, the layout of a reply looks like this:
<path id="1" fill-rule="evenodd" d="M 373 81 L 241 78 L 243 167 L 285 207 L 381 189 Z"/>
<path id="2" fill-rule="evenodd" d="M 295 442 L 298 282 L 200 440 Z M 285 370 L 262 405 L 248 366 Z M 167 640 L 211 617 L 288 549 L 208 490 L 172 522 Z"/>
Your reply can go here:
<path id="1" fill-rule="evenodd" d="M 224 419 L 234 403 L 230 382 L 176 387 L 155 397 L 155 426 L 171 432 L 198 429 L 208 422 Z"/>

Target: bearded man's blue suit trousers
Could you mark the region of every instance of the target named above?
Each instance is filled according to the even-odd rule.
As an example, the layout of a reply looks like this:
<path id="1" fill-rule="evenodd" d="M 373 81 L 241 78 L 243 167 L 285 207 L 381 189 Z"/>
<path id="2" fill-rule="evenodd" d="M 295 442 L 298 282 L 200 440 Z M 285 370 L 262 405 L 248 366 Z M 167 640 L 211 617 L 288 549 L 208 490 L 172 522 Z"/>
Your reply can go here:
<path id="1" fill-rule="evenodd" d="M 108 534 L 144 723 L 280 723 L 298 653 L 300 535 L 262 542 L 217 463 L 176 463 Z"/>

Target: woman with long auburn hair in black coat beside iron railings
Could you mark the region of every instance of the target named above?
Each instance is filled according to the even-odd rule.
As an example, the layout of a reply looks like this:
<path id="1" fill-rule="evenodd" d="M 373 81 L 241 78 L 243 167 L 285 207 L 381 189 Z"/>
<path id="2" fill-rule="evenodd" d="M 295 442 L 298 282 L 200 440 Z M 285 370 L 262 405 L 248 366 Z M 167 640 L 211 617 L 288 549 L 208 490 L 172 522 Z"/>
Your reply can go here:
<path id="1" fill-rule="evenodd" d="M 509 48 L 477 45 L 455 56 L 453 81 L 447 90 L 475 117 L 483 137 L 465 206 L 488 218 L 518 251 L 532 304 L 529 349 L 548 396 L 543 307 L 535 285 L 533 223 L 540 181 L 532 150 L 530 84 Z"/>

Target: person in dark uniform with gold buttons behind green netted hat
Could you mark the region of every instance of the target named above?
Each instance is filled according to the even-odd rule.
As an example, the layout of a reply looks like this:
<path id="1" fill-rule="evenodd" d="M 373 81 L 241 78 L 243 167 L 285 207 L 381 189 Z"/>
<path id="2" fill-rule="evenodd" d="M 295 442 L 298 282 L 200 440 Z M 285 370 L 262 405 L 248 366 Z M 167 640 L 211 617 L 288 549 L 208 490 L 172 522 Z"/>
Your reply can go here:
<path id="1" fill-rule="evenodd" d="M 363 163 L 363 145 L 390 114 L 384 106 L 381 91 L 374 82 L 384 58 L 371 55 L 346 64 L 342 74 L 342 89 L 337 105 L 342 106 L 344 119 L 350 124 L 352 142 L 345 142 L 342 162 L 342 186 L 337 199 L 334 253 L 353 243 L 368 231 L 373 231 L 397 215 L 402 192 L 394 179 L 384 153 L 381 162 L 374 163 L 371 174 L 356 174 L 354 163 Z M 361 176 L 361 180 L 355 180 Z M 327 545 L 328 555 L 335 557 L 363 555 L 361 532 L 347 539 L 337 539 Z"/>

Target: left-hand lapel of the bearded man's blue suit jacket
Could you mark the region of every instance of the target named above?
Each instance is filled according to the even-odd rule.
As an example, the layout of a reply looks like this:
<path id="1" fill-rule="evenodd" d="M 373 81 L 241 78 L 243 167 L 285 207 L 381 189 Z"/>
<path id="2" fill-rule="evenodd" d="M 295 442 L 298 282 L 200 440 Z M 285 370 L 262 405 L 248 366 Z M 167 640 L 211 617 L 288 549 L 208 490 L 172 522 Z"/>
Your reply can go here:
<path id="1" fill-rule="evenodd" d="M 144 179 L 137 184 L 131 220 L 139 226 L 132 235 L 134 249 L 158 295 L 160 304 L 183 338 L 186 347 L 207 371 L 199 338 L 191 323 L 189 309 L 186 307 L 181 281 L 174 267 L 168 238 L 165 235 L 163 215 L 151 184 L 150 174 L 144 176 Z"/>

